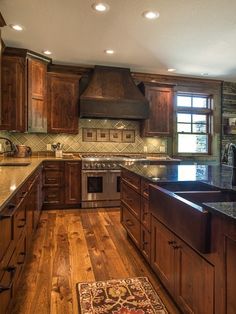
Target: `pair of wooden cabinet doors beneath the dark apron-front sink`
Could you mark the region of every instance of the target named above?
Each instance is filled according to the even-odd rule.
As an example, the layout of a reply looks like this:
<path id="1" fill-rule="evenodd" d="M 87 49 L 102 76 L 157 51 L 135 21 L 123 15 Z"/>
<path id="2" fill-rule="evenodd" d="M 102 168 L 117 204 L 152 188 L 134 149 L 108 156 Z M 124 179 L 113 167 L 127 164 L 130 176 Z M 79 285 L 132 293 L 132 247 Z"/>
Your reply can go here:
<path id="1" fill-rule="evenodd" d="M 151 265 L 184 313 L 214 313 L 214 266 L 152 217 Z"/>

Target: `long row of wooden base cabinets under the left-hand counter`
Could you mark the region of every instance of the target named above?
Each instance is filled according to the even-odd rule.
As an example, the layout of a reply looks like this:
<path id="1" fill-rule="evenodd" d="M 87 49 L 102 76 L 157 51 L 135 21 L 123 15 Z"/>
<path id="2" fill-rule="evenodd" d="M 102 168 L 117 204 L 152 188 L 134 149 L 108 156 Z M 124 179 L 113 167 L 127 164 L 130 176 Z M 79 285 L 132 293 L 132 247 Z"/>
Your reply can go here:
<path id="1" fill-rule="evenodd" d="M 0 213 L 1 313 L 10 312 L 32 244 L 34 213 L 39 200 L 36 192 L 39 171 L 32 174 Z"/>

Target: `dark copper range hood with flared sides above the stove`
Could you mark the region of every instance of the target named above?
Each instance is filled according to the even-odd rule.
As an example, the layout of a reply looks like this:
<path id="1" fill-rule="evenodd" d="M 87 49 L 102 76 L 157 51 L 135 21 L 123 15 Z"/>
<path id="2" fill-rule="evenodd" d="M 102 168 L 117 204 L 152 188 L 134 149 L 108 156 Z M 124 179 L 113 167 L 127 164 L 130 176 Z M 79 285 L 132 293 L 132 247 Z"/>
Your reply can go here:
<path id="1" fill-rule="evenodd" d="M 127 68 L 95 66 L 80 96 L 80 117 L 147 119 L 149 104 Z"/>

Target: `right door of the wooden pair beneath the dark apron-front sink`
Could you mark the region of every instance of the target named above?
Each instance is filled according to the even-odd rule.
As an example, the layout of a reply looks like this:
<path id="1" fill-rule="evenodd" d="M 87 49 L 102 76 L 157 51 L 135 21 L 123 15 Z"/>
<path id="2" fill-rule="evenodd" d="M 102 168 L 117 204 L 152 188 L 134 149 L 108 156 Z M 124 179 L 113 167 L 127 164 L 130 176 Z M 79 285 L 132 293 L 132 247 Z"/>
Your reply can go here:
<path id="1" fill-rule="evenodd" d="M 176 261 L 175 289 L 181 308 L 185 313 L 213 314 L 214 266 L 181 240 L 177 241 L 174 250 Z"/>

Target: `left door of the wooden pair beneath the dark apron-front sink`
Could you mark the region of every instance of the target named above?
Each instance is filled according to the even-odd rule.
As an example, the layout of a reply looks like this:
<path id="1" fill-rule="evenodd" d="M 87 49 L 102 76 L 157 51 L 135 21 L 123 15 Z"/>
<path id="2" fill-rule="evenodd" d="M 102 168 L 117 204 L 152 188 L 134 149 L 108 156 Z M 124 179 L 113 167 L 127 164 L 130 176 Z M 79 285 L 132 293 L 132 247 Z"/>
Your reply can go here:
<path id="1" fill-rule="evenodd" d="M 157 219 L 152 218 L 151 265 L 170 292 L 174 292 L 175 264 L 173 243 L 175 236 Z"/>

